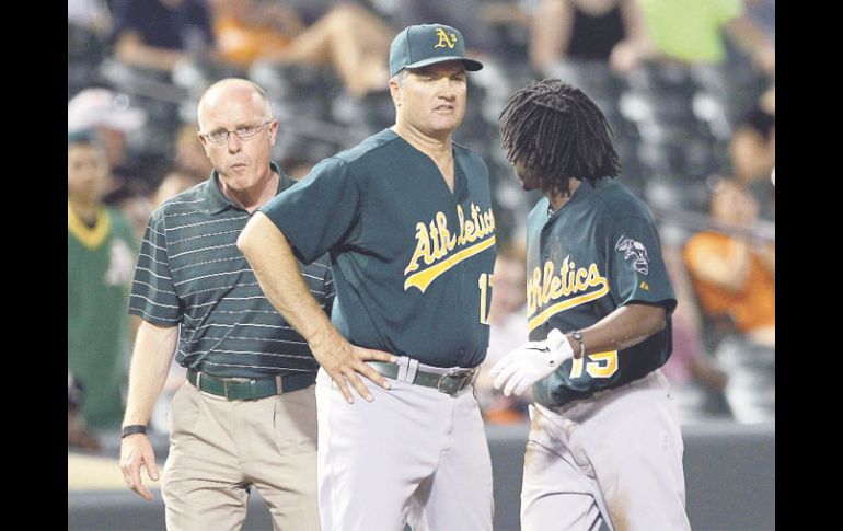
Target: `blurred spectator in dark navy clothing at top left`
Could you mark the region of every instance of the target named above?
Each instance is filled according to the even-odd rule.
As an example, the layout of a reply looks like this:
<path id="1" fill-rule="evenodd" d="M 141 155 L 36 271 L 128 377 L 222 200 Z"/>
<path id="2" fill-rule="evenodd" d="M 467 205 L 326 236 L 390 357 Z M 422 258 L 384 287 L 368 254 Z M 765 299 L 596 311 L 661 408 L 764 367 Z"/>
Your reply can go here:
<path id="1" fill-rule="evenodd" d="M 125 65 L 172 71 L 190 57 L 213 57 L 210 14 L 200 0 L 115 0 L 114 50 Z"/>

